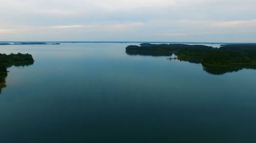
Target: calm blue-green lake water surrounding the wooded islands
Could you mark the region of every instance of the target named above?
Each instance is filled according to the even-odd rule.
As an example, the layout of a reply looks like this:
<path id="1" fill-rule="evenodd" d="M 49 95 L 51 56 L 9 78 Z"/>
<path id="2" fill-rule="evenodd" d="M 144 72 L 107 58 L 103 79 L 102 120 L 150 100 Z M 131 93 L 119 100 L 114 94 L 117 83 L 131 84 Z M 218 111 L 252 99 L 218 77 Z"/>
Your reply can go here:
<path id="1" fill-rule="evenodd" d="M 0 142 L 256 142 L 256 70 L 212 74 L 132 44 L 0 46 L 35 60 L 8 68 Z"/>

